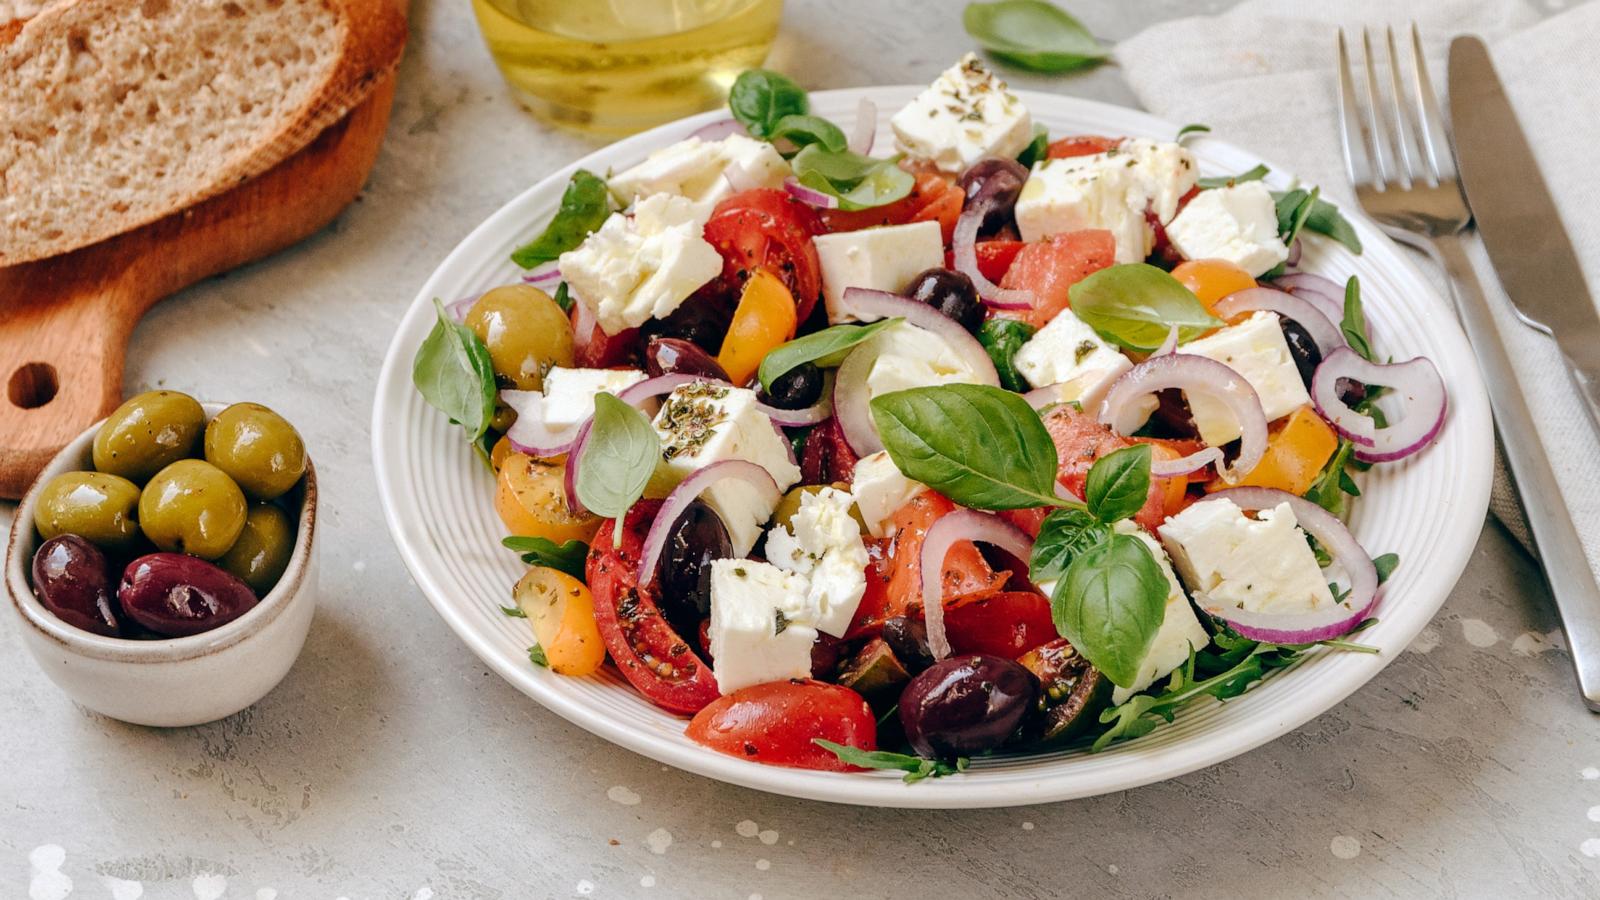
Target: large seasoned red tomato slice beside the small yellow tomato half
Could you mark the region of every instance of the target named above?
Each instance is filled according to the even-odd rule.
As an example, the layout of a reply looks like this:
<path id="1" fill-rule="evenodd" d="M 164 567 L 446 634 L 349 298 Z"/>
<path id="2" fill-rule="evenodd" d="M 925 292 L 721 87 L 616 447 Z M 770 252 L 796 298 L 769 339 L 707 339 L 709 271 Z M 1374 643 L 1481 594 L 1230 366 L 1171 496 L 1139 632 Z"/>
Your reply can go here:
<path id="1" fill-rule="evenodd" d="M 661 501 L 645 500 L 627 511 L 621 548 L 611 546 L 613 520 L 602 522 L 602 540 L 589 551 L 586 575 L 600 639 L 622 677 L 656 706 L 691 716 L 717 700 L 717 679 L 667 625 L 656 607 L 654 589 L 638 586 L 635 577 L 645 532 L 658 509 Z"/>

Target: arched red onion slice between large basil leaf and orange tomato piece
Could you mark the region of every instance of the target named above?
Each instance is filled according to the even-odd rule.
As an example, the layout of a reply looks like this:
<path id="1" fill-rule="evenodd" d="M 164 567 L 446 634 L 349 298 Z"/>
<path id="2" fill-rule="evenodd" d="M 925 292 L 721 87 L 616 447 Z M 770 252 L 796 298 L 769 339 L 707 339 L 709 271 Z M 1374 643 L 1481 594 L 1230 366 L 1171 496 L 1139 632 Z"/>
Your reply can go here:
<path id="1" fill-rule="evenodd" d="M 1099 410 L 1101 424 L 1110 426 L 1117 434 L 1133 434 L 1150 416 L 1150 407 L 1139 400 L 1168 388 L 1211 397 L 1226 405 L 1238 421 L 1238 458 L 1221 469 L 1222 480 L 1235 484 L 1256 468 L 1267 452 L 1267 416 L 1261 412 L 1261 397 L 1243 375 L 1203 356 L 1158 356 L 1130 368 L 1106 391 Z"/>

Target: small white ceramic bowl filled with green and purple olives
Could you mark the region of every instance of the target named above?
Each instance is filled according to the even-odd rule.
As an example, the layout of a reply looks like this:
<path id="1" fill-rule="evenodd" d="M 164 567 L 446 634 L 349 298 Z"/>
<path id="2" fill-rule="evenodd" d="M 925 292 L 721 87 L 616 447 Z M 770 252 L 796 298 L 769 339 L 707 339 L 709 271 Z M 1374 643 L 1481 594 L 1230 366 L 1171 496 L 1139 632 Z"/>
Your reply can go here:
<path id="1" fill-rule="evenodd" d="M 259 404 L 139 394 L 51 460 L 6 589 L 45 674 L 141 725 L 230 716 L 288 673 L 315 610 L 317 472 Z"/>

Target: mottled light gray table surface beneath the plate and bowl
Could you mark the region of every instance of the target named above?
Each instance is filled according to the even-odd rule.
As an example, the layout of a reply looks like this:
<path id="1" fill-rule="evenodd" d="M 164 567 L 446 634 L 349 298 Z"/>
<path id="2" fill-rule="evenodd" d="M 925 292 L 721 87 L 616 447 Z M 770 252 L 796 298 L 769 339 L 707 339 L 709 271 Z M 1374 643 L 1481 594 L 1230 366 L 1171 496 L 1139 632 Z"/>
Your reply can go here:
<path id="1" fill-rule="evenodd" d="M 1106 38 L 1194 10 L 1074 6 Z M 958 14 L 790 0 L 773 64 L 811 88 L 922 82 L 968 48 Z M 1133 102 L 1114 67 L 1014 80 Z M 514 106 L 464 0 L 416 3 L 362 202 L 144 320 L 128 391 L 258 399 L 306 434 L 325 485 L 322 605 L 266 700 L 170 732 L 75 708 L 6 617 L 0 897 L 1600 895 L 1597 724 L 1538 570 L 1496 525 L 1418 644 L 1349 701 L 1222 765 L 1082 802 L 766 796 L 613 748 L 491 676 L 389 541 L 373 380 L 456 240 L 592 146 Z"/>

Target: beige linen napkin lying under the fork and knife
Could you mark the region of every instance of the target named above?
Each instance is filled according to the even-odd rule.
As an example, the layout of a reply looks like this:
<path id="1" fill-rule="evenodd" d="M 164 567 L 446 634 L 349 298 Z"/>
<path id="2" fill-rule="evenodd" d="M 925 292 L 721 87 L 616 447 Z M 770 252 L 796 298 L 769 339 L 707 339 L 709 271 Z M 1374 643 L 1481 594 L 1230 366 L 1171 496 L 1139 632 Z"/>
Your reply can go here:
<path id="1" fill-rule="evenodd" d="M 1451 37 L 1478 34 L 1490 42 L 1590 293 L 1600 296 L 1600 64 L 1594 54 L 1600 2 L 1541 18 L 1515 0 L 1250 0 L 1221 16 L 1154 26 L 1118 45 L 1117 59 L 1150 112 L 1211 125 L 1219 138 L 1293 167 L 1293 175 L 1355 208 L 1338 144 L 1334 29 L 1358 35 L 1362 26 L 1395 26 L 1405 46 L 1411 21 L 1422 30 L 1437 90 L 1445 90 Z M 1402 59 L 1410 59 L 1406 50 Z M 1514 317 L 1483 248 L 1474 240 L 1470 251 L 1589 562 L 1600 570 L 1600 437 L 1554 341 Z M 1443 293 L 1443 275 L 1426 258 L 1419 261 Z M 1526 546 L 1526 522 L 1504 466 L 1496 466 L 1490 508 Z"/>

